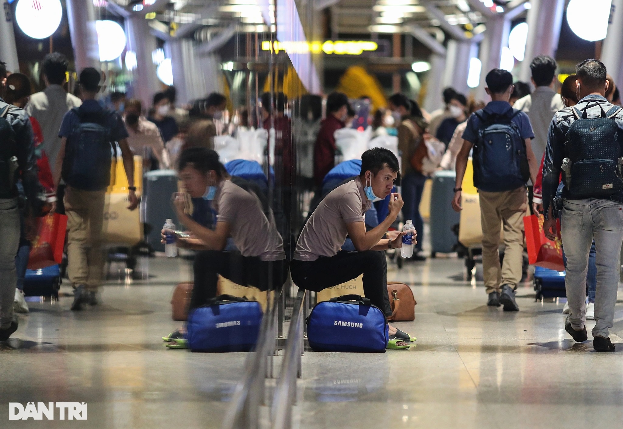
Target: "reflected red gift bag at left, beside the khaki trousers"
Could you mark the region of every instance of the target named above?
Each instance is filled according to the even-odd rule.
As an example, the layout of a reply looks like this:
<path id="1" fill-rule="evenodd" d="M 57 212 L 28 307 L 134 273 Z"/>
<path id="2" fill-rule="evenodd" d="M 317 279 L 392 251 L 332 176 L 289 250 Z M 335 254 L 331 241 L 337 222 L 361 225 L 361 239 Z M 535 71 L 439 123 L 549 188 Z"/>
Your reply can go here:
<path id="1" fill-rule="evenodd" d="M 37 236 L 32 241 L 28 269 L 60 264 L 63 260 L 67 216 L 54 213 L 37 219 Z"/>

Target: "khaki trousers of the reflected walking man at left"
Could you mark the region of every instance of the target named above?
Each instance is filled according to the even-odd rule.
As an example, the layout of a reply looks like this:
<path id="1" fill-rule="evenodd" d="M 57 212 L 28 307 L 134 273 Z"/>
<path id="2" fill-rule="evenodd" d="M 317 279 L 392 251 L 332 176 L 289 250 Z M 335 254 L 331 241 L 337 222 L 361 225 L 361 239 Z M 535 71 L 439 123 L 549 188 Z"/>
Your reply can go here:
<path id="1" fill-rule="evenodd" d="M 72 286 L 97 291 L 104 265 L 102 223 L 105 191 L 65 188 L 67 215 L 67 272 Z"/>

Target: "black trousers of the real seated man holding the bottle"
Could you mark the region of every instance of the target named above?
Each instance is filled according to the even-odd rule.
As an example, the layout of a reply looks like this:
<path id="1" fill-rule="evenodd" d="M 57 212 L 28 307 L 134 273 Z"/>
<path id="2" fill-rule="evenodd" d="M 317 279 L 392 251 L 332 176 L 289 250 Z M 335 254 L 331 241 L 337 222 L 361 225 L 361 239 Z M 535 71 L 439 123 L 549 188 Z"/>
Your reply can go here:
<path id="1" fill-rule="evenodd" d="M 388 264 L 384 251 L 339 251 L 335 256 L 321 256 L 315 261 L 290 263 L 292 281 L 308 291 L 320 292 L 363 274 L 363 291 L 372 304 L 391 316 L 388 296 Z"/>

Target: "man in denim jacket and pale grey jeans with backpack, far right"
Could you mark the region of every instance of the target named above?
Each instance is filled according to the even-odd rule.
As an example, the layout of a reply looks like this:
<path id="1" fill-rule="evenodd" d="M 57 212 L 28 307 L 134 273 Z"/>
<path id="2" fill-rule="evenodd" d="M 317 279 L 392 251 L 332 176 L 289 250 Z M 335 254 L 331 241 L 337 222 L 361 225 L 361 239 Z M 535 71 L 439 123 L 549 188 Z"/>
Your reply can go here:
<path id="1" fill-rule="evenodd" d="M 586 272 L 594 239 L 597 264 L 593 347 L 612 352 L 609 330 L 619 287 L 623 243 L 623 111 L 607 102 L 606 67 L 584 60 L 576 68 L 579 102 L 554 115 L 543 163 L 543 229 L 556 235 L 555 212 L 561 213 L 565 286 L 569 316 L 564 329 L 578 342 L 588 339 Z M 563 187 L 559 188 L 559 176 Z M 555 207 L 553 207 L 555 206 Z"/>

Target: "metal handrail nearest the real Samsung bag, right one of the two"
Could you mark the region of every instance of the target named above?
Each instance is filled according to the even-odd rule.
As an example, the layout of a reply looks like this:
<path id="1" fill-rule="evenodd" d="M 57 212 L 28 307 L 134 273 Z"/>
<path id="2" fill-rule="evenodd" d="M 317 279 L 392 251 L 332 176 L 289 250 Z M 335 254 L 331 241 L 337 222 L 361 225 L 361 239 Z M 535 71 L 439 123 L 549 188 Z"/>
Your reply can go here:
<path id="1" fill-rule="evenodd" d="M 301 375 L 303 352 L 303 301 L 305 289 L 298 289 L 297 299 L 290 319 L 288 340 L 271 410 L 272 429 L 290 429 L 292 426 L 292 405 L 297 398 L 297 378 Z"/>

